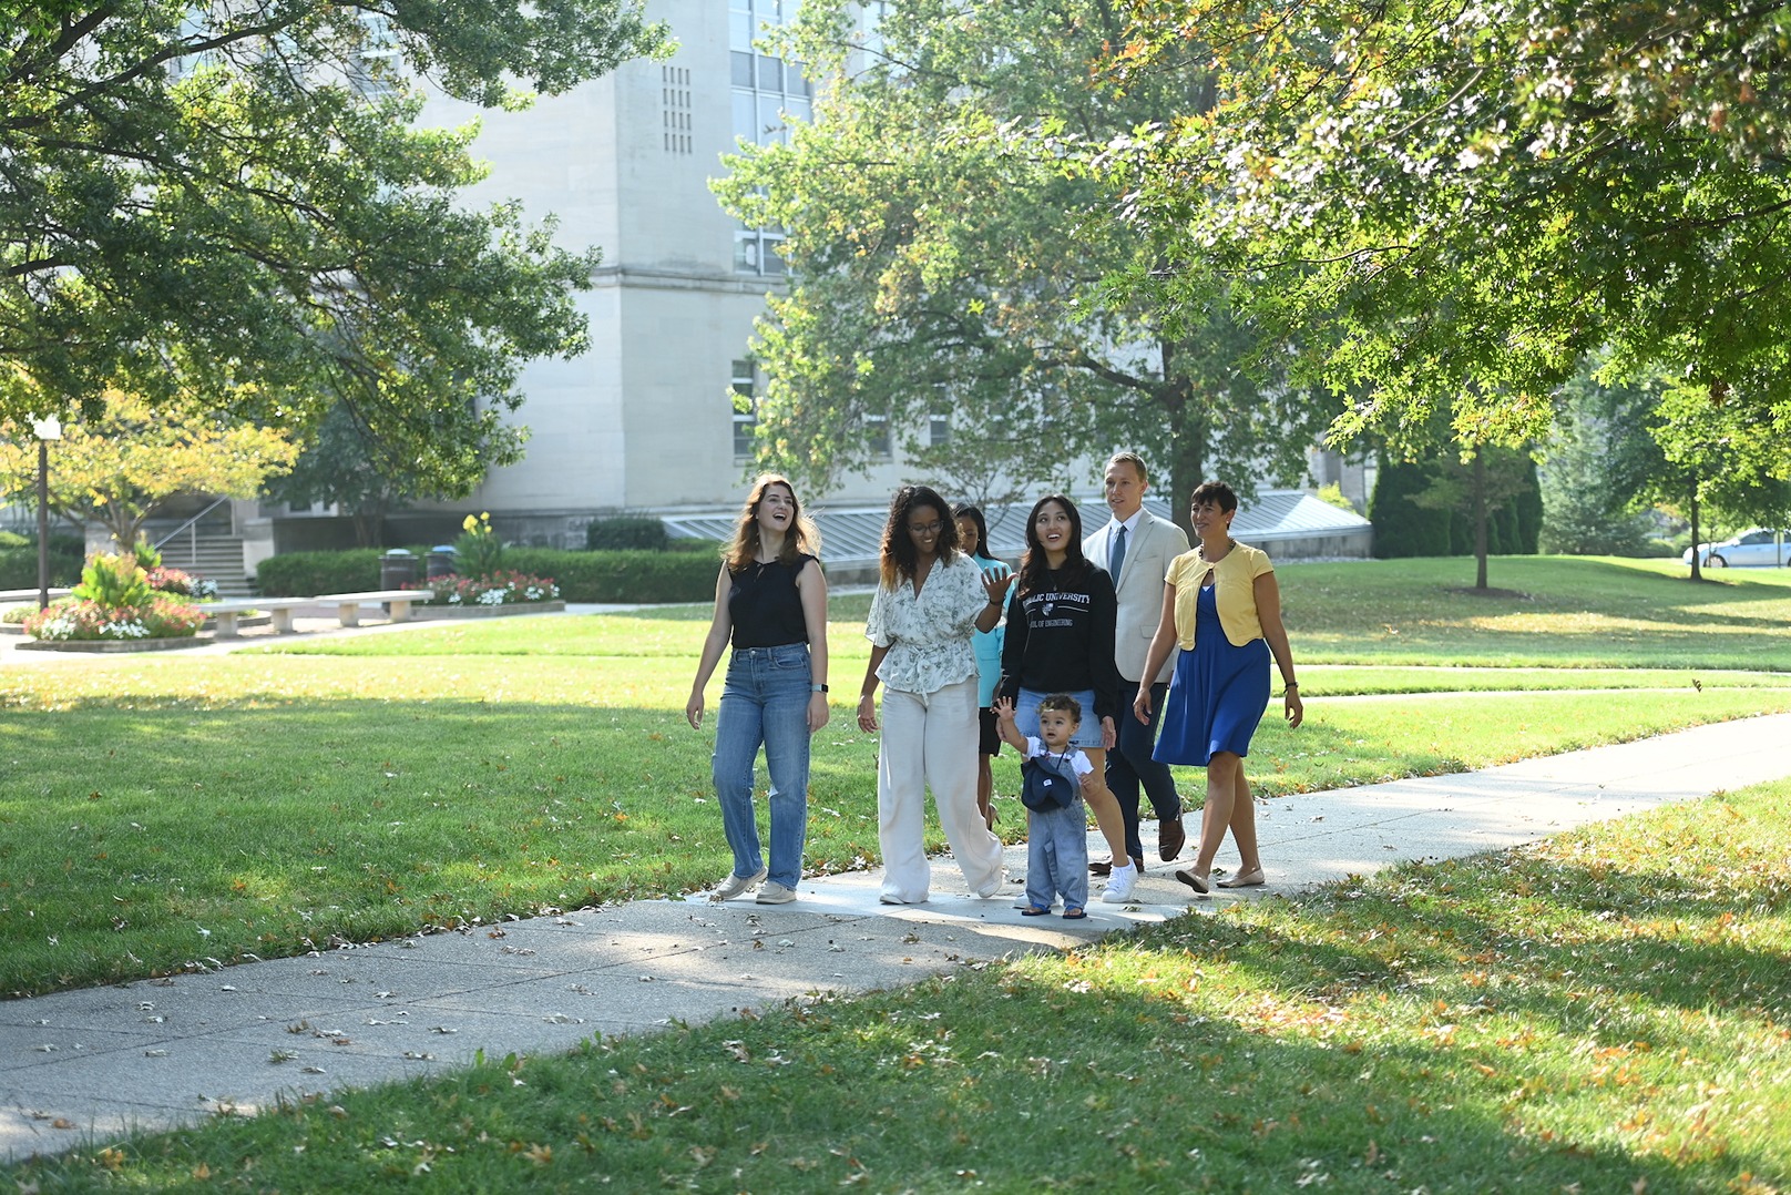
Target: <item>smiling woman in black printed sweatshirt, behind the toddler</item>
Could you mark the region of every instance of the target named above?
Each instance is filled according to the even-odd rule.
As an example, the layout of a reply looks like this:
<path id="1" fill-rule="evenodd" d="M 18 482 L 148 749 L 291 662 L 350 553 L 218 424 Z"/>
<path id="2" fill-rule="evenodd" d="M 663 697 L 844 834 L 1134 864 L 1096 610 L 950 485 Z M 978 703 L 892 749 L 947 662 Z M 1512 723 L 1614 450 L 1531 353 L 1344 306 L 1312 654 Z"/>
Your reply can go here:
<path id="1" fill-rule="evenodd" d="M 1119 670 L 1114 666 L 1114 582 L 1082 555 L 1082 514 L 1064 494 L 1046 494 L 1026 520 L 1026 555 L 1008 602 L 1001 649 L 1001 695 L 1014 701 L 1021 735 L 1039 736 L 1039 702 L 1069 693 L 1094 717 L 1071 740 L 1087 752 L 1100 781 L 1084 790 L 1114 865 L 1101 899 L 1123 905 L 1137 883 L 1137 860 L 1127 856 L 1119 803 L 1107 790 L 1107 751 L 1114 745 Z"/>

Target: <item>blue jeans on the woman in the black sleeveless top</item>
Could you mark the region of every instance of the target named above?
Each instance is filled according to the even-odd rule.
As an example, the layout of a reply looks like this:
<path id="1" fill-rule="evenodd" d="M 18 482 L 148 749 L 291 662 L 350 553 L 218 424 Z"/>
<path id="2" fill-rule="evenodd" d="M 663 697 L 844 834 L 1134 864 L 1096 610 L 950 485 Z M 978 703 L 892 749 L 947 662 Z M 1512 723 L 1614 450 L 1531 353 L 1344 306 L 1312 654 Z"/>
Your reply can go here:
<path id="1" fill-rule="evenodd" d="M 727 661 L 722 709 L 715 720 L 715 795 L 734 851 L 734 874 L 756 876 L 759 826 L 752 812 L 752 765 L 765 745 L 772 776 L 772 862 L 768 880 L 793 889 L 802 878 L 808 835 L 808 643 L 740 647 Z"/>

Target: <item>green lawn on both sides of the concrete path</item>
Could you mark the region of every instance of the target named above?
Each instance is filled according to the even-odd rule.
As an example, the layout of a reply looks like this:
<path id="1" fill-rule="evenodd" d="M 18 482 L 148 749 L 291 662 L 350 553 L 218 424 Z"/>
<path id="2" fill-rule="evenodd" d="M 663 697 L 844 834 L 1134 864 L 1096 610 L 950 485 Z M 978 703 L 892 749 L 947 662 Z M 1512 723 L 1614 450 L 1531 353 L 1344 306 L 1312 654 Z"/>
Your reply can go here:
<path id="1" fill-rule="evenodd" d="M 1307 722 L 1264 720 L 1259 792 L 1791 709 L 1791 573 L 1692 586 L 1657 563 L 1499 559 L 1494 584 L 1528 597 L 1451 593 L 1470 570 L 1282 570 Z M 847 701 L 863 606 L 831 609 Z M 679 607 L 7 670 L 0 991 L 715 881 L 713 727 L 682 720 L 704 629 Z M 876 740 L 845 702 L 833 715 L 818 871 L 878 858 Z M 998 787 L 1014 792 L 1010 756 Z M 1791 785 L 1730 794 L 1091 951 L 0 1174 L 43 1190 L 204 1172 L 249 1190 L 1778 1191 L 1787 812 Z"/>

